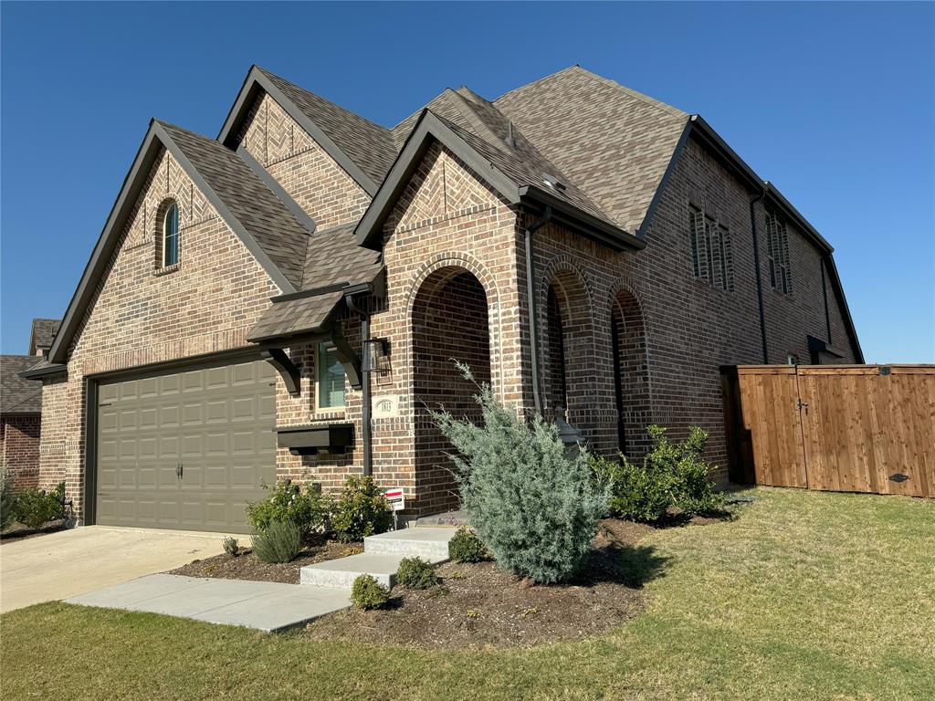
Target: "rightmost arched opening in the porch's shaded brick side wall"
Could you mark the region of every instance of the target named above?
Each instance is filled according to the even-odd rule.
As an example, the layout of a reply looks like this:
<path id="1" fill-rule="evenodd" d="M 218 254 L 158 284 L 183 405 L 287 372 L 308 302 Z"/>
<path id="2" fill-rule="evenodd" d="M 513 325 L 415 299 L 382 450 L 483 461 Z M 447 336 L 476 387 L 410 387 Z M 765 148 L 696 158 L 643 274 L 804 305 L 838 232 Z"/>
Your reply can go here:
<path id="1" fill-rule="evenodd" d="M 617 443 L 627 457 L 640 457 L 649 449 L 646 425 L 652 422 L 649 364 L 640 303 L 626 290 L 611 301 L 611 345 Z"/>

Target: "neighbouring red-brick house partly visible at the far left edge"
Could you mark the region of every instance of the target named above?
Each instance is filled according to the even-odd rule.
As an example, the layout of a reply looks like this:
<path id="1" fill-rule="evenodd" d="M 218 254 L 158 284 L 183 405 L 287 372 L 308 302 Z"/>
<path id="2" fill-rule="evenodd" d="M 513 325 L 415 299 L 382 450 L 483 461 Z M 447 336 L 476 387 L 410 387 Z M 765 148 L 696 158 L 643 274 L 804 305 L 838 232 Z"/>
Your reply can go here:
<path id="1" fill-rule="evenodd" d="M 13 476 L 13 489 L 35 487 L 39 479 L 42 382 L 22 373 L 45 356 L 58 331 L 57 319 L 34 319 L 28 355 L 0 355 L 0 462 Z"/>

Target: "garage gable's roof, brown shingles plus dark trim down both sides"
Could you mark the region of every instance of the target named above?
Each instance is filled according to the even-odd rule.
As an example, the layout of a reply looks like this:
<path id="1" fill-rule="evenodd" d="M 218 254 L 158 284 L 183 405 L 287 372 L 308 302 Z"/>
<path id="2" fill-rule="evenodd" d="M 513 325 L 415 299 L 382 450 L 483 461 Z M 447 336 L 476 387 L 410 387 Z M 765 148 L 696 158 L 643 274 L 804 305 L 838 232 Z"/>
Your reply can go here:
<path id="1" fill-rule="evenodd" d="M 308 230 L 234 151 L 205 136 L 152 120 L 68 304 L 49 352 L 50 364 L 66 361 L 68 347 L 94 297 L 97 280 L 107 269 L 123 226 L 163 149 L 172 154 L 283 293 L 295 292 L 301 285 Z"/>

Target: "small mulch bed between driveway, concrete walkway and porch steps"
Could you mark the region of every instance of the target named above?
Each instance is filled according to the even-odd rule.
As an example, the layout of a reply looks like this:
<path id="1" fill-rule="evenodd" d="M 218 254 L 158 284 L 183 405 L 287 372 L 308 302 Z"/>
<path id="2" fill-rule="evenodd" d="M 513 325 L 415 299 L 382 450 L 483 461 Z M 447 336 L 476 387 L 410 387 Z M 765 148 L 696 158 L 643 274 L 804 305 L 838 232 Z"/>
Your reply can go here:
<path id="1" fill-rule="evenodd" d="M 337 540 L 317 538 L 310 542 L 291 563 L 270 565 L 260 562 L 252 551 L 241 548 L 237 557 L 226 552 L 204 560 L 193 560 L 188 565 L 169 570 L 170 575 L 187 577 L 209 577 L 216 579 L 252 579 L 254 581 L 278 581 L 283 584 L 298 584 L 299 570 L 305 565 L 324 563 L 363 552 L 363 543 L 338 543 Z"/>

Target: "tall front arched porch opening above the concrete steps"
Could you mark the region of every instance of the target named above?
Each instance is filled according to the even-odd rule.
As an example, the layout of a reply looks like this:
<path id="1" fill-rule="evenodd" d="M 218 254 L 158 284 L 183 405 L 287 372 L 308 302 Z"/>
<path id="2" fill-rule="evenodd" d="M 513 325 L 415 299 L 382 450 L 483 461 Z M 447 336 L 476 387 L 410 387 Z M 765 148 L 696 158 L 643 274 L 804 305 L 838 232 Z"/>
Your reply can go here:
<path id="1" fill-rule="evenodd" d="M 478 382 L 490 382 L 487 295 L 461 267 L 440 268 L 424 280 L 412 307 L 412 371 L 415 401 L 415 481 L 419 511 L 457 508 L 451 445 L 428 410 L 444 407 L 456 417 L 481 420 L 477 387 L 454 361 L 467 364 Z"/>

